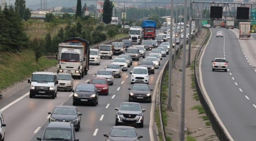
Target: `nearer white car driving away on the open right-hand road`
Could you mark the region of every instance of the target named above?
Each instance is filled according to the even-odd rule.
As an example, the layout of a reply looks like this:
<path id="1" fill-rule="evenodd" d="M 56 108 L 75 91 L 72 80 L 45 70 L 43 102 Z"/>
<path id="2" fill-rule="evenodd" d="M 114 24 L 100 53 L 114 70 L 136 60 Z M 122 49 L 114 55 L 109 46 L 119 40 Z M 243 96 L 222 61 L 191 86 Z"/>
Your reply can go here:
<path id="1" fill-rule="evenodd" d="M 215 58 L 212 62 L 212 71 L 215 70 L 224 70 L 227 72 L 228 61 L 225 58 Z"/>

